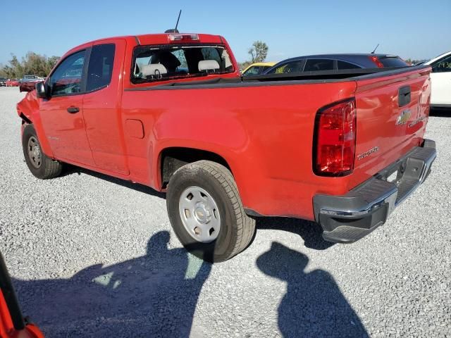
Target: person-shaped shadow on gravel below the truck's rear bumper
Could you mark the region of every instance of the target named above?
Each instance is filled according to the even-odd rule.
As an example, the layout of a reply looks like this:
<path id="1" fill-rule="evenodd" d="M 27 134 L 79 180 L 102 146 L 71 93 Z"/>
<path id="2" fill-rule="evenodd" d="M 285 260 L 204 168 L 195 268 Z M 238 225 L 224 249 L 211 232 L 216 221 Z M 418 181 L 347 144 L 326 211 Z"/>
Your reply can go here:
<path id="1" fill-rule="evenodd" d="M 323 270 L 306 273 L 309 258 L 273 242 L 257 258 L 259 269 L 287 282 L 278 309 L 283 337 L 369 337 L 333 277 Z"/>

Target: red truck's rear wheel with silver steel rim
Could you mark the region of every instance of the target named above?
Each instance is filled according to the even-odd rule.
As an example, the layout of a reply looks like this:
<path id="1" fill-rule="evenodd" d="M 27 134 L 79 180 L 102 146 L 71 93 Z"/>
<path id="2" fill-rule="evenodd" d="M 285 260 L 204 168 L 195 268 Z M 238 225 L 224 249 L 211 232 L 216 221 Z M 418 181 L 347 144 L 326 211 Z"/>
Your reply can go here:
<path id="1" fill-rule="evenodd" d="M 205 261 L 227 261 L 254 236 L 255 220 L 246 215 L 232 174 L 218 163 L 197 161 L 178 169 L 166 205 L 180 242 Z"/>

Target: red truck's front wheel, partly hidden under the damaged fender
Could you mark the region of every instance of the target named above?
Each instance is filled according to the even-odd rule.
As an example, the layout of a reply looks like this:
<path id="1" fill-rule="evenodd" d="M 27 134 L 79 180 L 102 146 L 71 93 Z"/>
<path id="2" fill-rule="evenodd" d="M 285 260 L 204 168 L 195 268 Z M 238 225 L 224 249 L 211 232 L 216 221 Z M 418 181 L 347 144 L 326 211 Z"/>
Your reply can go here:
<path id="1" fill-rule="evenodd" d="M 26 125 L 22 133 L 23 156 L 28 169 L 35 177 L 42 180 L 54 178 L 61 174 L 63 165 L 47 157 L 41 148 L 33 125 Z"/>

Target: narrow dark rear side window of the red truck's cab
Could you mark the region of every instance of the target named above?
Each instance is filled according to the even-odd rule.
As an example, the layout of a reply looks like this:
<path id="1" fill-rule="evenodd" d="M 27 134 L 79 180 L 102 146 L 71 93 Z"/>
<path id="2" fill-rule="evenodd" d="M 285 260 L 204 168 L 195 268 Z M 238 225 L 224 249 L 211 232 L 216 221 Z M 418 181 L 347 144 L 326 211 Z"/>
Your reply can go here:
<path id="1" fill-rule="evenodd" d="M 99 44 L 92 47 L 87 68 L 86 90 L 107 86 L 111 81 L 114 63 L 114 44 Z"/>

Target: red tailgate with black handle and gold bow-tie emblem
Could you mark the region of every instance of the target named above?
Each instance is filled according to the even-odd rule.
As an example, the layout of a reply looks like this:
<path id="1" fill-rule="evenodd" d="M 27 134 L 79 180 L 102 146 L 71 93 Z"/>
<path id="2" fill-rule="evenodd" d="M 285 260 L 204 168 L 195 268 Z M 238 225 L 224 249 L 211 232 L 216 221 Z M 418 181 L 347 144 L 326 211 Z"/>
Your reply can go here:
<path id="1" fill-rule="evenodd" d="M 423 140 L 431 97 L 431 68 L 359 77 L 357 141 L 350 189 L 407 154 Z"/>

